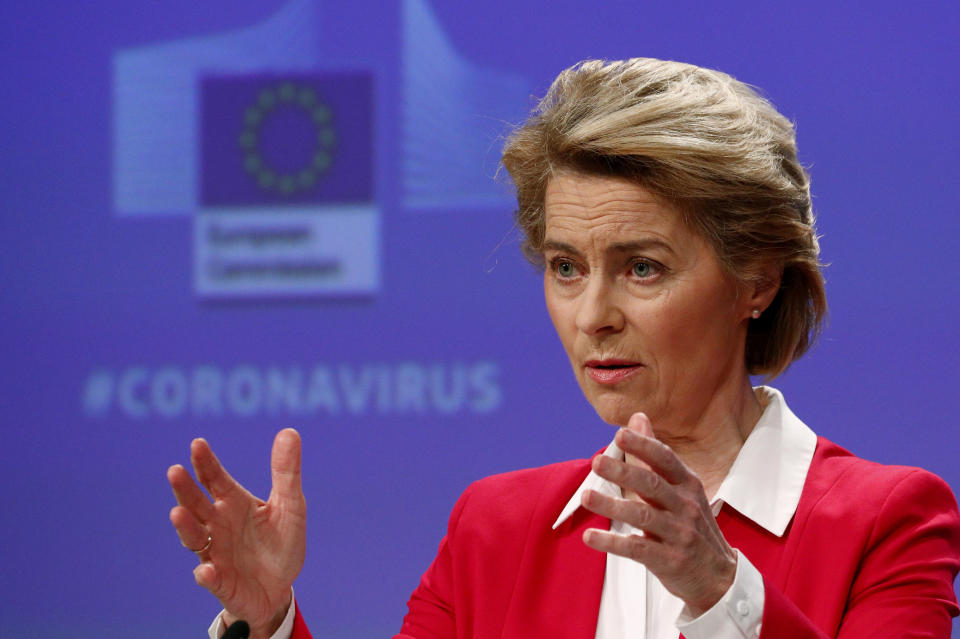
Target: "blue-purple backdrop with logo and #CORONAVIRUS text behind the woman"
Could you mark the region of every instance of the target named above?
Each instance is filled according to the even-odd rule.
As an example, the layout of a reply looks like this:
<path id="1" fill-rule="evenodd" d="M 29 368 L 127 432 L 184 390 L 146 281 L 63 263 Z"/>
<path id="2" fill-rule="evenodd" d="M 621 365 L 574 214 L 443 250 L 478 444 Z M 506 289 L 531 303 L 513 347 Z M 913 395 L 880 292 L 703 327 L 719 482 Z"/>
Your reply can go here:
<path id="1" fill-rule="evenodd" d="M 399 628 L 473 479 L 583 457 L 507 124 L 561 69 L 716 67 L 798 124 L 831 320 L 777 381 L 960 488 L 952 2 L 210 0 L 0 8 L 0 637 L 203 636 L 168 522 L 203 435 L 255 493 L 303 435 L 315 636 Z"/>

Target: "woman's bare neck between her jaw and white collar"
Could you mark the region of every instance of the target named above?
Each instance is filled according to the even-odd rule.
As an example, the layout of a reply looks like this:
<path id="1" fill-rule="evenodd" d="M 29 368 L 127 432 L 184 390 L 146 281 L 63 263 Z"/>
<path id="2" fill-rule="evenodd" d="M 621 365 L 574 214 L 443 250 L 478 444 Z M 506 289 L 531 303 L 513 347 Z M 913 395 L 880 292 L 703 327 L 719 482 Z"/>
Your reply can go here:
<path id="1" fill-rule="evenodd" d="M 765 404 L 765 401 L 761 404 L 749 377 L 744 375 L 742 383 L 726 393 L 714 395 L 704 410 L 697 416 L 688 416 L 682 427 L 661 429 L 654 421 L 654 433 L 697 474 L 707 499 L 713 500 L 743 443 L 760 420 Z"/>

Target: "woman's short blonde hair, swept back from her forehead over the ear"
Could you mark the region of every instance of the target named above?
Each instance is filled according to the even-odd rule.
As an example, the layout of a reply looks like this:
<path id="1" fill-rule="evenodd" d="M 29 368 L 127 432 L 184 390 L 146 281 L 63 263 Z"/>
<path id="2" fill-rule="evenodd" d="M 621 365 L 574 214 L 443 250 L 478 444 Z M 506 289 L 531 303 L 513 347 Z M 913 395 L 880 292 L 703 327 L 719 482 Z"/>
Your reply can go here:
<path id="1" fill-rule="evenodd" d="M 815 341 L 827 302 L 809 177 L 793 125 L 742 82 L 648 58 L 581 62 L 512 133 L 502 163 L 535 264 L 551 176 L 625 177 L 679 210 L 739 281 L 781 269 L 776 298 L 749 324 L 750 374 L 777 376 Z"/>

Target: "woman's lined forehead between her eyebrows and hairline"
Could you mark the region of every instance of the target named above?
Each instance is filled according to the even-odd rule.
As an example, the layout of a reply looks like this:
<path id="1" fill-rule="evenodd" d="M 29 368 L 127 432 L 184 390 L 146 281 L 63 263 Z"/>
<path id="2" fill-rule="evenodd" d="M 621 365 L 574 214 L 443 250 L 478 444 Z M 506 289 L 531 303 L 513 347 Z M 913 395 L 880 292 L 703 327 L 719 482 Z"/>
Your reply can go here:
<path id="1" fill-rule="evenodd" d="M 692 239 L 679 211 L 622 178 L 559 173 L 547 183 L 544 213 L 547 239 L 583 234 L 594 239 L 636 234 Z"/>

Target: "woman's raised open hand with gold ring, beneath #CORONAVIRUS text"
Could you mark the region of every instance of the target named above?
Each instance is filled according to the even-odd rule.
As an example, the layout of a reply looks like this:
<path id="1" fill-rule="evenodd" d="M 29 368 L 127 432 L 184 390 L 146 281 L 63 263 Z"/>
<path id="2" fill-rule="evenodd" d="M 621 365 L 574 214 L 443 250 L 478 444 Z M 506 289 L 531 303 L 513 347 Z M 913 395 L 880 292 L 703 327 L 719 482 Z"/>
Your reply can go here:
<path id="1" fill-rule="evenodd" d="M 170 521 L 200 559 L 194 577 L 223 604 L 225 623 L 244 619 L 251 638 L 266 639 L 290 607 L 306 551 L 300 436 L 287 428 L 273 440 L 273 486 L 265 502 L 224 470 L 205 440 L 190 444 L 190 462 L 212 502 L 183 466 L 171 466 L 167 479 L 178 504 Z"/>

